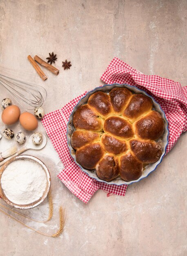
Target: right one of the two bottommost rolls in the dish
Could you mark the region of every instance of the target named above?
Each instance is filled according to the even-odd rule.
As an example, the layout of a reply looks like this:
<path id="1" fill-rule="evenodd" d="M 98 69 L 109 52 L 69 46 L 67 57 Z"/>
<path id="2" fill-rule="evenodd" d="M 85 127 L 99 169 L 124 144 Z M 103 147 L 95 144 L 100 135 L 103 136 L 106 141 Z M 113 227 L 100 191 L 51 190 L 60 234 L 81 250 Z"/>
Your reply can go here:
<path id="1" fill-rule="evenodd" d="M 130 152 L 120 157 L 120 177 L 125 181 L 137 180 L 143 171 L 143 164 Z"/>

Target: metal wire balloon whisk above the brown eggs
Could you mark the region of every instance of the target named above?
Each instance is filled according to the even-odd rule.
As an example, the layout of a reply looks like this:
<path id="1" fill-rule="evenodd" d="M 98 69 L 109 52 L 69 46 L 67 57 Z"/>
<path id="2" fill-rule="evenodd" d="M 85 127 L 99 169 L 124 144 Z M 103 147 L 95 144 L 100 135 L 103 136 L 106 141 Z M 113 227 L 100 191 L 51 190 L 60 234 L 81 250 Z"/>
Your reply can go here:
<path id="1" fill-rule="evenodd" d="M 42 86 L 19 81 L 2 74 L 0 74 L 0 84 L 20 106 L 23 108 L 27 106 L 26 110 L 42 106 L 47 97 L 47 92 Z"/>

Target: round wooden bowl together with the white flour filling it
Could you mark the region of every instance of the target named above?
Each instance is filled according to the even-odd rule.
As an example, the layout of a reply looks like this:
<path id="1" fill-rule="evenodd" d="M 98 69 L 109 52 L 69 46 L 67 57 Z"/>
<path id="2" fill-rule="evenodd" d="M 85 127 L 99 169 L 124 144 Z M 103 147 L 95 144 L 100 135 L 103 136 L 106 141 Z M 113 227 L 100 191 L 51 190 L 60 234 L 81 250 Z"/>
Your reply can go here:
<path id="1" fill-rule="evenodd" d="M 12 207 L 38 206 L 47 197 L 50 186 L 47 166 L 31 155 L 13 157 L 0 169 L 0 197 Z"/>

